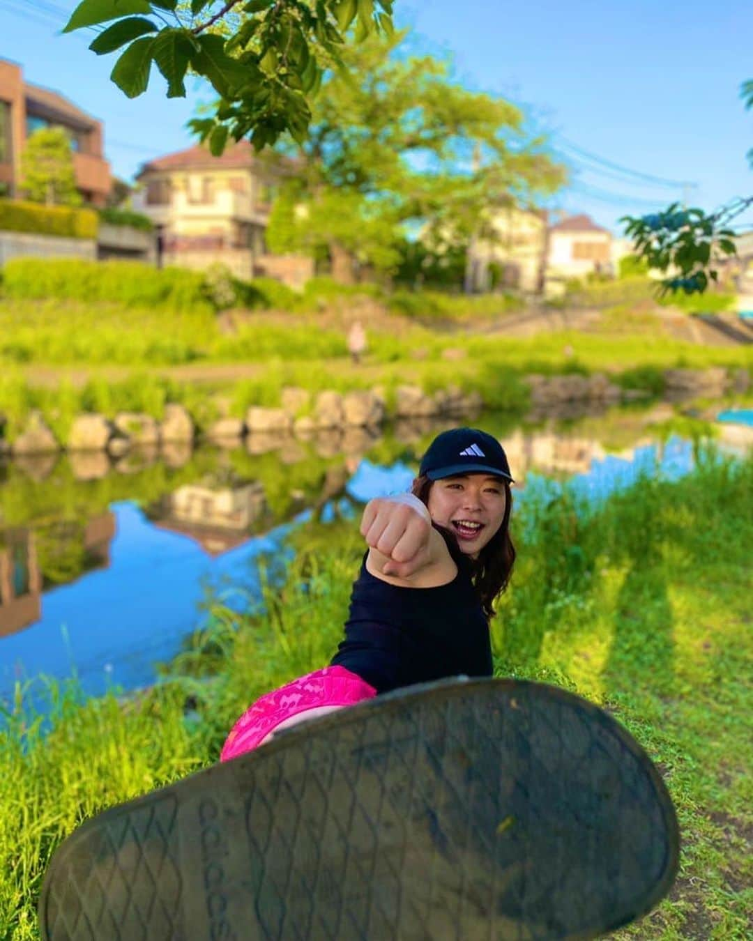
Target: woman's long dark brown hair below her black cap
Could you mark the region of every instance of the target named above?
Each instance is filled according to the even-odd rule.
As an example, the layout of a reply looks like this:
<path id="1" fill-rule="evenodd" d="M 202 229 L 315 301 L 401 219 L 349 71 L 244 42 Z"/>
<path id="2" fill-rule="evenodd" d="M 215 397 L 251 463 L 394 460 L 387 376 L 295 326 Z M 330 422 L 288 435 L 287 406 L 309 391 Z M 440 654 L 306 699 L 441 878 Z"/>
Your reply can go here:
<path id="1" fill-rule="evenodd" d="M 411 487 L 414 496 L 428 506 L 429 490 L 434 481 L 428 477 L 416 477 Z M 487 545 L 478 553 L 477 559 L 469 559 L 457 543 L 457 536 L 446 526 L 440 526 L 432 522 L 432 526 L 441 534 L 447 550 L 457 566 L 465 564 L 471 565 L 471 579 L 473 587 L 478 592 L 481 599 L 481 606 L 484 614 L 491 618 L 494 614 L 494 600 L 499 594 L 505 591 L 507 582 L 510 581 L 512 567 L 515 564 L 515 547 L 510 538 L 510 511 L 512 510 L 512 492 L 510 485 L 506 480 L 500 483 L 505 487 L 505 517 L 502 525 L 497 532 L 489 539 Z"/>

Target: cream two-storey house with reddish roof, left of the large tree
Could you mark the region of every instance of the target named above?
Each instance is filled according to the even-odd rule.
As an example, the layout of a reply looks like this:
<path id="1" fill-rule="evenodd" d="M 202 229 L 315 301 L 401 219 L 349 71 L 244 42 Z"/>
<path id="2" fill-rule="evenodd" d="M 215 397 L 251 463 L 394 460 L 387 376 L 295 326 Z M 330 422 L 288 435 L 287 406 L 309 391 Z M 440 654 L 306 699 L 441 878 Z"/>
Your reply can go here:
<path id="1" fill-rule="evenodd" d="M 264 243 L 272 200 L 290 172 L 290 164 L 259 156 L 246 139 L 218 157 L 197 144 L 144 164 L 132 204 L 157 227 L 164 264 L 221 263 L 237 278 L 267 275 L 302 286 L 312 261 L 270 255 Z"/>

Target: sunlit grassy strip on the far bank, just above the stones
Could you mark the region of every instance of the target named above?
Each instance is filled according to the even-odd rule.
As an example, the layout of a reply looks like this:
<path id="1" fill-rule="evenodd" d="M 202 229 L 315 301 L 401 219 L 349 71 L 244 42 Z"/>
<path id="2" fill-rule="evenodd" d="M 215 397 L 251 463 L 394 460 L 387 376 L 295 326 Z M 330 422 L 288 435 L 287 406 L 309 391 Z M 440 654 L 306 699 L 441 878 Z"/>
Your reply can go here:
<path id="1" fill-rule="evenodd" d="M 277 327 L 276 327 L 277 329 Z M 312 327 L 312 350 L 327 344 L 325 332 Z M 281 391 L 296 386 L 312 394 L 323 390 L 351 391 L 381 387 L 390 403 L 398 386 L 413 384 L 425 392 L 457 386 L 478 391 L 492 409 L 520 411 L 528 402 L 525 376 L 591 375 L 605 372 L 625 389 L 652 395 L 665 387 L 664 371 L 670 368 L 706 369 L 723 366 L 748 369 L 753 366 L 753 347 L 709 347 L 657 339 L 644 334 L 584 334 L 575 331 L 547 333 L 530 339 L 502 335 L 455 336 L 452 340 L 429 331 L 412 341 L 384 334 L 377 347 L 360 365 L 345 356 L 328 359 L 312 353 L 312 359 L 296 359 L 295 352 L 309 342 L 300 328 L 256 337 L 248 349 L 268 352 L 259 359 L 238 362 L 222 370 L 201 363 L 180 367 L 142 368 L 113 374 L 106 365 L 60 367 L 42 383 L 34 369 L 0 366 L 0 416 L 8 422 L 5 437 L 13 439 L 33 409 L 39 409 L 65 441 L 73 418 L 79 412 L 100 412 L 113 417 L 118 411 L 143 411 L 161 419 L 169 402 L 184 405 L 194 422 L 205 427 L 225 412 L 242 418 L 249 406 L 278 407 Z M 286 336 L 295 334 L 295 345 L 285 354 Z M 0 333 L 1 335 L 1 333 Z M 342 341 L 338 340 L 340 343 Z M 170 341 L 179 342 L 174 337 Z M 223 342 L 227 341 L 227 338 Z M 344 341 L 342 341 L 344 343 Z M 381 349 L 381 353 L 378 352 Z M 0 432 L 2 434 L 2 432 Z"/>

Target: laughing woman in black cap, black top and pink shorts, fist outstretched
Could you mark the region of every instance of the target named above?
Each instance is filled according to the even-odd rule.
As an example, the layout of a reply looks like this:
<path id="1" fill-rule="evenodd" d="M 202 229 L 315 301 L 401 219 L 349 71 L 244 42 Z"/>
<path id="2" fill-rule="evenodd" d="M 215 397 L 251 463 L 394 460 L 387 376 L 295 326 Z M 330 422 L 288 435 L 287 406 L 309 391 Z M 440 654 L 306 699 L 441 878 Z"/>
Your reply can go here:
<path id="1" fill-rule="evenodd" d="M 434 439 L 411 493 L 366 504 L 360 533 L 369 548 L 329 666 L 257 700 L 220 759 L 377 694 L 490 677 L 489 617 L 515 561 L 512 482 L 505 451 L 486 432 L 455 428 Z"/>

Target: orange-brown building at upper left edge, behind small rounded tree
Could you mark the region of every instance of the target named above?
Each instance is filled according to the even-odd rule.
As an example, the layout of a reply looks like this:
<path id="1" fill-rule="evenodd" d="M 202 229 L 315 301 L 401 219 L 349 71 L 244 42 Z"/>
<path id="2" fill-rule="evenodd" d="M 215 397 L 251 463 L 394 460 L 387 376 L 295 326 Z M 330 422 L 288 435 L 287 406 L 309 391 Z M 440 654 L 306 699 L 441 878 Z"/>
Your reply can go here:
<path id="1" fill-rule="evenodd" d="M 57 91 L 24 82 L 21 66 L 0 59 L 0 196 L 21 197 L 21 154 L 41 127 L 61 127 L 71 137 L 78 191 L 91 206 L 104 206 L 111 187 L 103 154 L 102 121 Z"/>

